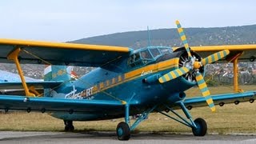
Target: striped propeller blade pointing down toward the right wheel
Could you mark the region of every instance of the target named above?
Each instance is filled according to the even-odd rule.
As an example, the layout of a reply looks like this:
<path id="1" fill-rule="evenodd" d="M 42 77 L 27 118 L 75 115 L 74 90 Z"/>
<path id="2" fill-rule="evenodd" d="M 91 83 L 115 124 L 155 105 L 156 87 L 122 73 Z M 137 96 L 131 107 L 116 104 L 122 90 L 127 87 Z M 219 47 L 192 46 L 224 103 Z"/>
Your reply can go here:
<path id="1" fill-rule="evenodd" d="M 210 91 L 208 90 L 208 87 L 206 86 L 206 82 L 203 79 L 202 74 L 197 73 L 195 79 L 198 82 L 198 87 L 202 92 L 202 96 L 204 98 L 206 98 L 206 102 L 207 102 L 208 106 L 210 107 L 210 110 L 214 112 L 216 110 L 216 108 L 214 106 L 214 101 L 213 101 L 213 98 L 211 98 L 211 96 L 210 96 Z"/>

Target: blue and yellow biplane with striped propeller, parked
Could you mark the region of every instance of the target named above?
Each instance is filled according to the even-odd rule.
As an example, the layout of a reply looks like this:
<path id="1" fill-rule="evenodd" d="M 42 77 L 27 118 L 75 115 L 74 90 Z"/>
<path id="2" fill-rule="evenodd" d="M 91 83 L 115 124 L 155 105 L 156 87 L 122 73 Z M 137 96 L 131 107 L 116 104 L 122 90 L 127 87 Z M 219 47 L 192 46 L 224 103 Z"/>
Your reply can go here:
<path id="1" fill-rule="evenodd" d="M 130 139 L 130 131 L 150 113 L 158 112 L 189 126 L 195 136 L 204 136 L 206 121 L 194 120 L 189 112 L 192 107 L 209 106 L 215 111 L 215 105 L 254 102 L 256 91 L 238 89 L 238 61 L 253 62 L 256 45 L 189 46 L 182 26 L 178 21 L 176 24 L 184 45 L 178 48 L 147 46 L 133 50 L 0 39 L 0 62 L 14 62 L 21 78 L 21 82 L 0 82 L 0 88 L 25 91 L 25 95 L 1 94 L 0 109 L 49 113 L 64 121 L 66 131 L 74 130 L 74 121 L 124 118 L 116 128 L 119 140 Z M 210 94 L 204 74 L 205 66 L 214 62 L 234 63 L 234 93 Z M 22 63 L 46 65 L 44 81 L 26 82 Z M 97 68 L 74 79 L 66 66 Z M 186 98 L 184 91 L 194 86 L 202 91 L 202 97 Z M 39 87 L 42 94 L 36 89 Z M 131 123 L 130 116 L 135 114 L 140 116 Z"/>

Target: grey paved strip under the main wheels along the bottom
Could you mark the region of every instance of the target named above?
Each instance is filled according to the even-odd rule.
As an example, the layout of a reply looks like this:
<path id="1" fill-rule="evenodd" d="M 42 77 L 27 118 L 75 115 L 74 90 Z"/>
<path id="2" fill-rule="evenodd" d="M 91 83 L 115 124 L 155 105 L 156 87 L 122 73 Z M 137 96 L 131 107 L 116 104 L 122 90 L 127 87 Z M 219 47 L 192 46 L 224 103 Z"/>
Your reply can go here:
<path id="1" fill-rule="evenodd" d="M 0 132 L 0 143 L 256 143 L 256 135 L 132 134 L 129 142 L 117 140 L 114 132 L 55 133 Z"/>

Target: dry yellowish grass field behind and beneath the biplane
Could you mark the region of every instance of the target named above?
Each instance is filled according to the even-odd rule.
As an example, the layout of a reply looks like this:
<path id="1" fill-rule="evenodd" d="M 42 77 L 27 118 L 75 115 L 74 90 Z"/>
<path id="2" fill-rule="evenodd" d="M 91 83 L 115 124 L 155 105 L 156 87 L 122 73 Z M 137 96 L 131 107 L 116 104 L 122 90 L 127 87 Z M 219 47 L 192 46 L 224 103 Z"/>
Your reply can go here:
<path id="1" fill-rule="evenodd" d="M 243 90 L 256 90 L 256 86 L 242 86 Z M 210 87 L 212 94 L 232 92 L 232 87 Z M 200 95 L 198 88 L 186 91 L 188 97 Z M 180 112 L 178 110 L 178 112 Z M 229 104 L 217 106 L 217 112 L 212 113 L 208 107 L 193 108 L 190 110 L 193 118 L 204 118 L 208 124 L 208 133 L 230 134 L 249 133 L 256 134 L 256 102 L 243 102 L 238 106 Z M 180 113 L 182 114 L 182 113 Z M 97 122 L 74 122 L 78 131 L 88 130 L 111 130 L 114 131 L 118 122 L 123 118 L 97 121 Z M 0 114 L 0 130 L 26 130 L 26 131 L 62 131 L 63 122 L 52 118 L 48 114 L 13 112 Z M 191 132 L 190 128 L 166 118 L 162 114 L 150 114 L 149 118 L 142 122 L 136 131 L 146 132 Z"/>

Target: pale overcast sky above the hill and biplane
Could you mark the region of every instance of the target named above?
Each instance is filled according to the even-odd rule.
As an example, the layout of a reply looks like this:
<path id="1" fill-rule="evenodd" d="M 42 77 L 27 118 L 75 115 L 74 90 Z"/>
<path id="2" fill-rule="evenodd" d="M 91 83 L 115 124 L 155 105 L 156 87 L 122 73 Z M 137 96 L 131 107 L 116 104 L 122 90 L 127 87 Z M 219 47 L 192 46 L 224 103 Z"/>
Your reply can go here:
<path id="1" fill-rule="evenodd" d="M 256 24 L 255 0 L 6 0 L 0 38 L 66 42 L 131 30 Z"/>

